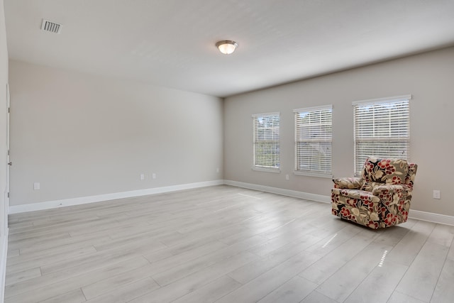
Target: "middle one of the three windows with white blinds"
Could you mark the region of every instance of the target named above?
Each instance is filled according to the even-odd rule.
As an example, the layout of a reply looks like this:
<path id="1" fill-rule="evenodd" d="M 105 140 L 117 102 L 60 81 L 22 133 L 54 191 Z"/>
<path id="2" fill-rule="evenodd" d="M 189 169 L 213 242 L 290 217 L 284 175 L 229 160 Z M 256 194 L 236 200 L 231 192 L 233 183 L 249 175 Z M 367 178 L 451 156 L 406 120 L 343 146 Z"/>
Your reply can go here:
<path id="1" fill-rule="evenodd" d="M 332 177 L 333 106 L 295 109 L 295 174 Z"/>

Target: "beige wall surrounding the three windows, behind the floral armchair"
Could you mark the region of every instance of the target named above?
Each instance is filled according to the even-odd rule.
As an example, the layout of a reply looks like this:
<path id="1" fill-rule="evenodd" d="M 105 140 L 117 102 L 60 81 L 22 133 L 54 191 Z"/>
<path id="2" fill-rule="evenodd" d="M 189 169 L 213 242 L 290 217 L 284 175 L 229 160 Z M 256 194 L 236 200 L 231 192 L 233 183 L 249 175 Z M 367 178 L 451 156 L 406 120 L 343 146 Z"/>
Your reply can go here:
<path id="1" fill-rule="evenodd" d="M 224 179 L 330 195 L 332 182 L 293 175 L 293 109 L 333 104 L 333 175 L 353 175 L 352 101 L 411 94 L 411 160 L 419 165 L 412 209 L 454 216 L 454 48 L 307 79 L 224 101 Z M 251 170 L 252 114 L 281 113 L 279 174 Z M 285 180 L 289 174 L 290 180 Z M 432 190 L 441 190 L 441 199 Z"/>

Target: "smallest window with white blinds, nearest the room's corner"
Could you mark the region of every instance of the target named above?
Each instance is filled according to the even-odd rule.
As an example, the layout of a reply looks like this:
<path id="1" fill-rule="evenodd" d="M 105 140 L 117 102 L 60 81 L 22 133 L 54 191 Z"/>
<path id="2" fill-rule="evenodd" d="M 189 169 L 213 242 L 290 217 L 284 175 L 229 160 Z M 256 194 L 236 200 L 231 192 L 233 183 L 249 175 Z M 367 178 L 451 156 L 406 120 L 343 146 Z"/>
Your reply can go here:
<path id="1" fill-rule="evenodd" d="M 279 171 L 279 120 L 279 113 L 253 115 L 253 169 Z"/>

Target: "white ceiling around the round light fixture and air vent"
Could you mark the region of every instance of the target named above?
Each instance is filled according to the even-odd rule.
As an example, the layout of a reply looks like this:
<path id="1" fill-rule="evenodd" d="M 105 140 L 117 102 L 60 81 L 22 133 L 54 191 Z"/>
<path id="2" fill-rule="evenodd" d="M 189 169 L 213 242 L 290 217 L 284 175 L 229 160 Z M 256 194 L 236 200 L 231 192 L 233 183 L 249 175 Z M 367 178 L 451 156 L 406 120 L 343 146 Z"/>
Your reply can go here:
<path id="1" fill-rule="evenodd" d="M 454 0 L 4 0 L 4 6 L 11 59 L 218 97 L 454 45 Z M 41 31 L 43 18 L 62 23 L 62 32 Z M 218 40 L 239 46 L 223 55 Z"/>

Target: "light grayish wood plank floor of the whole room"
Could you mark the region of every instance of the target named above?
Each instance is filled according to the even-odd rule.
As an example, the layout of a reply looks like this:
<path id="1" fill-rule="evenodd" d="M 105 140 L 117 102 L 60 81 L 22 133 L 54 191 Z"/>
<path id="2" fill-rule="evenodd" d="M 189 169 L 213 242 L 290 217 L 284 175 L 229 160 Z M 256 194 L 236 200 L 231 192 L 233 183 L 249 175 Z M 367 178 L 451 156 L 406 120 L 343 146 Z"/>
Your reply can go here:
<path id="1" fill-rule="evenodd" d="M 453 302 L 453 236 L 229 186 L 13 214 L 5 302 Z"/>

